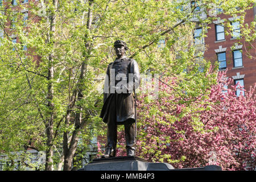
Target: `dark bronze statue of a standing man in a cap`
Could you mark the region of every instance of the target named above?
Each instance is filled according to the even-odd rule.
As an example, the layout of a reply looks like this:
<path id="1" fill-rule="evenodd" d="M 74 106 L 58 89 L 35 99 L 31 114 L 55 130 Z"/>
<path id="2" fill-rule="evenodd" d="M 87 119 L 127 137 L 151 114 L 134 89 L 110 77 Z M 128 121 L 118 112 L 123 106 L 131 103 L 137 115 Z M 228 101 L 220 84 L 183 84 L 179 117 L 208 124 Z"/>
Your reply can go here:
<path id="1" fill-rule="evenodd" d="M 139 67 L 134 59 L 125 56 L 128 49 L 122 40 L 114 42 L 117 58 L 108 65 L 104 85 L 104 105 L 100 117 L 108 126 L 105 154 L 115 156 L 117 125 L 125 125 L 127 156 L 135 155 L 136 106 L 135 89 L 139 86 Z"/>

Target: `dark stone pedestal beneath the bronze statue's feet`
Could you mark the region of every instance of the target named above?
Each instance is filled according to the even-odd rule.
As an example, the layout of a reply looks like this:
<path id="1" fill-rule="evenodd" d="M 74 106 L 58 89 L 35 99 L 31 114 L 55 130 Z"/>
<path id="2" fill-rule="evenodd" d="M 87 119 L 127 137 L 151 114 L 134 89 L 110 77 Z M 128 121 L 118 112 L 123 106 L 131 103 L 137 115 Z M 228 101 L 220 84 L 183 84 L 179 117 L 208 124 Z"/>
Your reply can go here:
<path id="1" fill-rule="evenodd" d="M 148 163 L 135 156 L 93 159 L 79 171 L 221 171 L 220 166 L 175 169 L 168 163 Z"/>

